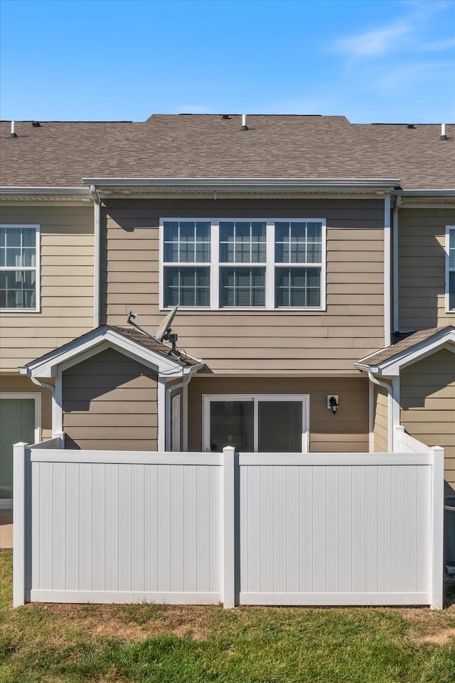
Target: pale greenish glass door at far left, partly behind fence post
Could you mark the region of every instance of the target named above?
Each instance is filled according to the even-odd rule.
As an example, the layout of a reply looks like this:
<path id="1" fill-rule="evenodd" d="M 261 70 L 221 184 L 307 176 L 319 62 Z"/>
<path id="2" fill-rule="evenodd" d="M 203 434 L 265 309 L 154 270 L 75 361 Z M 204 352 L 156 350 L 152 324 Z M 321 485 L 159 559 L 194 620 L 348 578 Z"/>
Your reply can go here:
<path id="1" fill-rule="evenodd" d="M 35 443 L 35 399 L 0 400 L 0 501 L 13 497 L 13 445 Z"/>

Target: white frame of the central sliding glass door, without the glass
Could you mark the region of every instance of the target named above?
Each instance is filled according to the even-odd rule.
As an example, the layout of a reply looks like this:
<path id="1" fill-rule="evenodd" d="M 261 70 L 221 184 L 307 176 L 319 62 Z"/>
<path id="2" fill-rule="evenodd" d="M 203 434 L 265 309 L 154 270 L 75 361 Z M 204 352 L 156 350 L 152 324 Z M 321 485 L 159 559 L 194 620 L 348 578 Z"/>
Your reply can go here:
<path id="1" fill-rule="evenodd" d="M 257 420 L 257 404 L 259 401 L 301 401 L 301 452 L 309 452 L 310 397 L 307 393 L 210 393 L 203 394 L 202 401 L 202 450 L 204 452 L 210 452 L 210 403 L 212 401 L 252 401 L 254 403 L 253 452 L 257 452 L 259 440 L 259 424 Z"/>

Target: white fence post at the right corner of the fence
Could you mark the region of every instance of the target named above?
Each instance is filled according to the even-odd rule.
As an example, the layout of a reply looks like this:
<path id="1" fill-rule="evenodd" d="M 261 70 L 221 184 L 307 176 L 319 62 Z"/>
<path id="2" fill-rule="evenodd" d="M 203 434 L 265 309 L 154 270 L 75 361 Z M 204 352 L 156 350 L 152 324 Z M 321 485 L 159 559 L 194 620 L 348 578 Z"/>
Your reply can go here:
<path id="1" fill-rule="evenodd" d="M 433 446 L 432 467 L 432 610 L 444 603 L 444 448 Z"/>

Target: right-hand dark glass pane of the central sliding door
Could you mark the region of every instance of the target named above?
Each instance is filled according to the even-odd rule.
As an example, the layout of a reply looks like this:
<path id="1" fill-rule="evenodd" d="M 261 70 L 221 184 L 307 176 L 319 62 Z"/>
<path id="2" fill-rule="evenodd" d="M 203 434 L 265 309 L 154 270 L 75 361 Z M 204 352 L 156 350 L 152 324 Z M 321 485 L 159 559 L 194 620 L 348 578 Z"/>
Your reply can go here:
<path id="1" fill-rule="evenodd" d="M 301 401 L 259 401 L 259 452 L 300 453 Z"/>

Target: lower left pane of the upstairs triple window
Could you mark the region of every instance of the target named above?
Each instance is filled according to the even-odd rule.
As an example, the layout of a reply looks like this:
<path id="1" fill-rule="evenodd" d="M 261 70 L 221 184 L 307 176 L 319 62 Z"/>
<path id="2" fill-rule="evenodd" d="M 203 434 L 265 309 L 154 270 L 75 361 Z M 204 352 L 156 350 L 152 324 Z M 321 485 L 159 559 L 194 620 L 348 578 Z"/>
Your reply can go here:
<path id="1" fill-rule="evenodd" d="M 210 268 L 165 268 L 164 306 L 210 306 Z"/>

